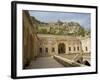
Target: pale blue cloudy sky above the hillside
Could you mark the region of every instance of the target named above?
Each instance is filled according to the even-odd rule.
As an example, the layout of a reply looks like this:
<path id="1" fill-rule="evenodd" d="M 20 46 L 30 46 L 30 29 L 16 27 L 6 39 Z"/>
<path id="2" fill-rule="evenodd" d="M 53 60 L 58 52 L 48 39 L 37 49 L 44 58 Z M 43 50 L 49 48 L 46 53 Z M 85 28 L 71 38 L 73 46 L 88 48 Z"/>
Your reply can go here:
<path id="1" fill-rule="evenodd" d="M 73 12 L 47 12 L 47 11 L 29 11 L 31 16 L 42 22 L 78 22 L 85 28 L 90 28 L 90 13 L 73 13 Z"/>

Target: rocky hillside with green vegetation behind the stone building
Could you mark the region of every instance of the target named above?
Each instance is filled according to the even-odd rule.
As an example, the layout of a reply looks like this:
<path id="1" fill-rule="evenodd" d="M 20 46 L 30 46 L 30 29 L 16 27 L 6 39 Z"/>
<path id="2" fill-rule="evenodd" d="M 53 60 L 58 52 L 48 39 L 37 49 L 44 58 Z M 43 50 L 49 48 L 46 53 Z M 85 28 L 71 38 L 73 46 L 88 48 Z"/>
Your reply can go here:
<path id="1" fill-rule="evenodd" d="M 37 33 L 40 34 L 90 37 L 90 30 L 85 29 L 77 22 L 62 22 L 58 20 L 53 23 L 45 23 L 35 19 L 35 17 L 32 17 L 32 20 L 37 25 Z"/>

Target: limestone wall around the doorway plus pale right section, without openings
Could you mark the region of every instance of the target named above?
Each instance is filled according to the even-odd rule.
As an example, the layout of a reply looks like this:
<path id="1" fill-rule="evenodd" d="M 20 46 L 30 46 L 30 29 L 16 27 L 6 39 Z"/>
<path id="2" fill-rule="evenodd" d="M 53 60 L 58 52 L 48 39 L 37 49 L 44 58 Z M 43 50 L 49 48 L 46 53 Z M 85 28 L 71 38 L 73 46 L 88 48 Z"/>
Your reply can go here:
<path id="1" fill-rule="evenodd" d="M 64 37 L 56 37 L 54 36 L 47 36 L 47 35 L 42 35 L 39 38 L 43 38 L 41 44 L 42 48 L 44 49 L 44 52 L 42 54 L 45 55 L 55 55 L 59 54 L 58 53 L 58 45 L 63 43 L 65 44 L 65 54 L 73 54 L 73 53 L 89 53 L 91 51 L 91 41 L 89 39 L 77 39 L 77 38 L 64 38 Z M 87 46 L 87 51 L 86 51 L 86 46 Z M 69 47 L 71 50 L 69 51 Z M 45 48 L 48 48 L 48 53 L 45 52 Z M 55 48 L 55 51 L 52 52 L 52 48 Z M 79 49 L 78 49 L 79 48 Z"/>

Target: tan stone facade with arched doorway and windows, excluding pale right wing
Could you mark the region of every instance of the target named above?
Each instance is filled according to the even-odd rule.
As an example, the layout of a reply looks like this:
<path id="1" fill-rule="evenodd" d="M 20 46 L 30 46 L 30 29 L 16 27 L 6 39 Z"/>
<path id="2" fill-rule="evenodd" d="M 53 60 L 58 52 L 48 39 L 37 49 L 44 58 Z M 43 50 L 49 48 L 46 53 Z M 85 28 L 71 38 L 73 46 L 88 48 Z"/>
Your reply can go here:
<path id="1" fill-rule="evenodd" d="M 81 41 L 75 37 L 44 34 L 38 34 L 38 37 L 41 56 L 81 53 L 83 51 Z"/>

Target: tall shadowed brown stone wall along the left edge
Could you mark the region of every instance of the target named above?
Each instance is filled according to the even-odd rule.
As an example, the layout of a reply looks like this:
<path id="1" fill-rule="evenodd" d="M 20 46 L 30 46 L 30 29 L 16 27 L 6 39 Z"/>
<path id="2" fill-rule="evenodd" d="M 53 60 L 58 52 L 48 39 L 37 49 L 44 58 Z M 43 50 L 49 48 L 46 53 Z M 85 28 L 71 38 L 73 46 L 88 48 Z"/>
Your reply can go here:
<path id="1" fill-rule="evenodd" d="M 39 39 L 28 11 L 23 10 L 23 68 L 38 56 Z"/>

